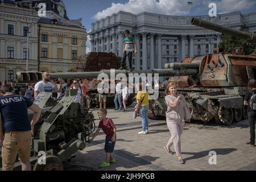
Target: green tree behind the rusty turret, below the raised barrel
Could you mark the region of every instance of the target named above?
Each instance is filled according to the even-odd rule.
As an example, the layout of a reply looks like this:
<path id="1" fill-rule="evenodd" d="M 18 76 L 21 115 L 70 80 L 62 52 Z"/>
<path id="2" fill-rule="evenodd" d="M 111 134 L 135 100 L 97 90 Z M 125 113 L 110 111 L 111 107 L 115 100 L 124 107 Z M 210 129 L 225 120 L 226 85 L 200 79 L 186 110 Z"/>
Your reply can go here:
<path id="1" fill-rule="evenodd" d="M 224 53 L 231 53 L 234 47 L 242 46 L 245 55 L 251 55 L 256 53 L 255 45 L 248 42 L 247 40 L 240 39 L 237 37 L 222 35 L 221 42 L 218 44 L 219 48 L 224 49 Z"/>

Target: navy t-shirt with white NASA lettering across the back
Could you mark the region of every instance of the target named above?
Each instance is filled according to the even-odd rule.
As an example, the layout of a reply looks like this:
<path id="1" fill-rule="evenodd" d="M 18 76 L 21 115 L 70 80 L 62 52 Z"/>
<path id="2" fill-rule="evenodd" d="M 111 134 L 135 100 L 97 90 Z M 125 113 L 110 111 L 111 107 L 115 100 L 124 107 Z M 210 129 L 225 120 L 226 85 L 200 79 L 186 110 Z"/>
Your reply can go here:
<path id="1" fill-rule="evenodd" d="M 17 95 L 0 97 L 0 111 L 5 132 L 31 130 L 27 107 L 33 104 L 28 98 Z"/>

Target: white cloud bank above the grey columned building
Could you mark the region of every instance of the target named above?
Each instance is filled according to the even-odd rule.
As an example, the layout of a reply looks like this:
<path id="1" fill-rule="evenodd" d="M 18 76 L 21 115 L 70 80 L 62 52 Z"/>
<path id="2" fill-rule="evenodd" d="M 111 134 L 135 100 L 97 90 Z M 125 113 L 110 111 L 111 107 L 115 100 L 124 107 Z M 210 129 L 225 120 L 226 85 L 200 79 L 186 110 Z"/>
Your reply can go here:
<path id="1" fill-rule="evenodd" d="M 217 12 L 230 12 L 234 10 L 249 9 L 256 4 L 254 0 L 217 0 L 217 1 L 201 1 L 201 0 L 129 0 L 125 4 L 112 3 L 110 7 L 98 12 L 93 19 L 100 20 L 110 16 L 118 11 L 127 11 L 133 14 L 139 14 L 143 11 L 166 15 L 186 15 L 191 13 L 193 6 L 188 6 L 188 2 L 193 2 L 193 6 L 201 6 L 202 9 L 209 10 L 209 3 L 217 4 Z"/>

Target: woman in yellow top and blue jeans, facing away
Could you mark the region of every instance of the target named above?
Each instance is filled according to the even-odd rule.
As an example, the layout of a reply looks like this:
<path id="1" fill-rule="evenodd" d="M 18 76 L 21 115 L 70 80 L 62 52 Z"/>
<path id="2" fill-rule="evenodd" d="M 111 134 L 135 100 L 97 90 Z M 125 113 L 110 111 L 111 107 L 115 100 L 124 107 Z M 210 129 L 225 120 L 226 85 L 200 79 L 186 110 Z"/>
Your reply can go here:
<path id="1" fill-rule="evenodd" d="M 139 92 L 137 94 L 137 105 L 135 108 L 135 113 L 139 113 L 141 117 L 142 130 L 138 134 L 146 135 L 148 133 L 148 92 L 146 90 L 145 84 L 142 82 L 139 84 Z"/>

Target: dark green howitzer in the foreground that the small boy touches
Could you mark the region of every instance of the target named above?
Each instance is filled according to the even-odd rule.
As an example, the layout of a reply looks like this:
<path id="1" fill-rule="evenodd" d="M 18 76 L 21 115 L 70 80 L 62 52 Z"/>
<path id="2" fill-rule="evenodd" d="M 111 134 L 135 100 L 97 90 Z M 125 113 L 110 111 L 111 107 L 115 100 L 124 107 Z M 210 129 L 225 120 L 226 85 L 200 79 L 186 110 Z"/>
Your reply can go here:
<path id="1" fill-rule="evenodd" d="M 89 134 L 95 129 L 93 114 L 73 102 L 77 89 L 68 90 L 54 106 L 44 107 L 51 95 L 40 92 L 34 102 L 42 108 L 31 141 L 30 162 L 34 171 L 63 170 L 63 162 L 85 148 Z M 28 117 L 32 119 L 32 111 L 28 111 Z M 15 163 L 14 169 L 21 169 L 20 162 Z"/>

